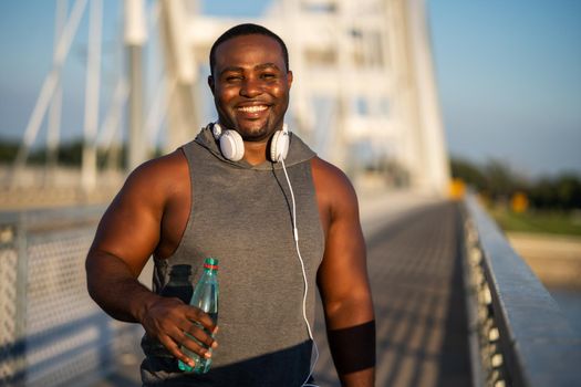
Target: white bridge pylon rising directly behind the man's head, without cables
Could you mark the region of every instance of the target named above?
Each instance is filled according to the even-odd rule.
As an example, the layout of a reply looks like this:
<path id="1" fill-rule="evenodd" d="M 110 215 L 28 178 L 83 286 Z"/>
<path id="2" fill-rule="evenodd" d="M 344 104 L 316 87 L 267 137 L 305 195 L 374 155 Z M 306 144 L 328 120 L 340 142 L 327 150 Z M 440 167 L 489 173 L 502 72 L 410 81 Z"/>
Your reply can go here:
<path id="1" fill-rule="evenodd" d="M 250 21 L 287 43 L 294 73 L 290 125 L 322 157 L 346 170 L 357 161 L 395 165 L 413 187 L 446 191 L 448 160 L 424 0 L 279 0 L 256 20 L 203 15 L 193 0 L 159 6 L 172 85 L 169 148 L 191 139 L 203 124 L 195 88 L 207 87 L 212 42 Z"/>

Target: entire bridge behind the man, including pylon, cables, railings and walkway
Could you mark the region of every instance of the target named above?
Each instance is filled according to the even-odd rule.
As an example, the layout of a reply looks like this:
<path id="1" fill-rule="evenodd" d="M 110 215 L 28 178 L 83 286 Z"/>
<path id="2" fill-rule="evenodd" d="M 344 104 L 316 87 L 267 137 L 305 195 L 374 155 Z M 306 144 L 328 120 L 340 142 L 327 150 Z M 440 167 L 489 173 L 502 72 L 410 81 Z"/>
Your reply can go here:
<path id="1" fill-rule="evenodd" d="M 86 293 L 84 257 L 105 203 L 125 176 L 100 170 L 96 153 L 98 145 L 114 154 L 123 109 L 129 115 L 129 168 L 155 145 L 144 138 L 157 138 L 164 128 L 164 147 L 173 147 L 193 135 L 185 123 L 201 124 L 204 105 L 191 97 L 203 67 L 197 61 L 236 20 L 200 15 L 195 3 L 160 0 L 147 8 L 126 0 L 129 71 L 100 122 L 95 46 L 102 3 L 79 0 L 69 12 L 66 1 L 58 2 L 61 39 L 53 70 L 0 188 L 0 386 L 141 385 L 143 331 L 111 320 Z M 87 6 L 93 45 L 83 166 L 68 170 L 51 161 L 34 169 L 27 158 L 44 118 L 52 133 L 48 148 L 58 143 L 60 79 Z M 297 61 L 291 65 L 299 73 L 315 70 L 298 87 L 297 100 L 307 103 L 292 106 L 293 127 L 344 166 L 359 192 L 377 318 L 377 386 L 578 385 L 580 334 L 478 201 L 471 195 L 445 197 L 448 172 L 423 7 L 419 0 L 280 1 L 257 20 L 290 36 Z M 149 23 L 165 31 L 160 51 L 167 72 L 158 85 L 165 96 L 153 98 L 144 112 L 142 53 Z M 304 36 L 321 39 L 301 38 L 304 29 Z M 370 76 L 382 80 L 377 90 L 357 86 L 369 84 Z M 340 90 L 333 79 L 351 82 Z M 320 127 L 334 129 L 324 134 Z M 345 157 L 359 147 L 371 149 L 371 157 Z M 397 166 L 398 172 L 382 166 Z M 149 283 L 151 274 L 142 281 Z M 321 347 L 315 379 L 339 386 L 320 305 L 315 339 Z"/>

